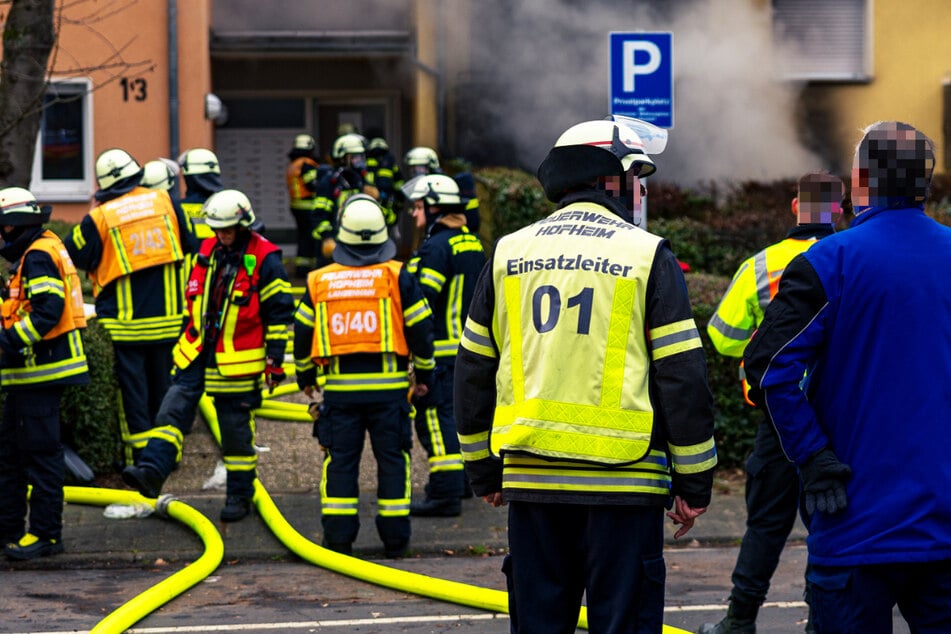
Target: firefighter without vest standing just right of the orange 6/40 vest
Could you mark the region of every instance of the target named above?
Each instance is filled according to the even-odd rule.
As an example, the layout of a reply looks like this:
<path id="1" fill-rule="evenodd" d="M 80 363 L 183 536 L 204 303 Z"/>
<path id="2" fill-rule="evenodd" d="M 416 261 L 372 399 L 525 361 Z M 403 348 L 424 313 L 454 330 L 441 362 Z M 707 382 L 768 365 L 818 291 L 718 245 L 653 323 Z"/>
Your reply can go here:
<path id="1" fill-rule="evenodd" d="M 485 265 L 478 236 L 466 227 L 456 182 L 443 174 L 417 176 L 403 188 L 426 238 L 407 264 L 435 316 L 436 371 L 429 393 L 414 401 L 416 435 L 429 458 L 426 498 L 412 515 L 454 517 L 466 482 L 452 406 L 453 368 L 476 279 Z"/>

